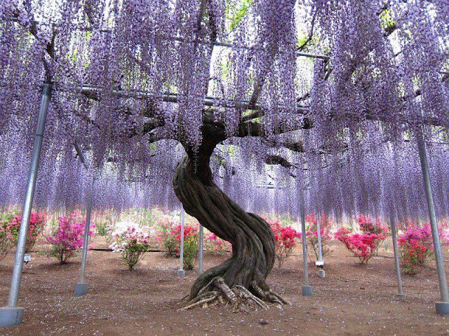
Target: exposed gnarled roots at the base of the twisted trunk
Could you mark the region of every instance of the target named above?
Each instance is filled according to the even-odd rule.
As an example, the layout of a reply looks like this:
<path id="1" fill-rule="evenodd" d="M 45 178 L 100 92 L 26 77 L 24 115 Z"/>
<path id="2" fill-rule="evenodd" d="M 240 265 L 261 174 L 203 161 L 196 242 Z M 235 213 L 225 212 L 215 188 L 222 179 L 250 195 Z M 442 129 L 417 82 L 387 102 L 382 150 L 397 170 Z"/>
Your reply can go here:
<path id="1" fill-rule="evenodd" d="M 213 290 L 210 290 L 213 288 Z M 272 290 L 262 290 L 260 286 L 253 283 L 251 290 L 241 285 L 234 285 L 229 288 L 225 280 L 216 276 L 209 283 L 199 290 L 198 295 L 187 302 L 181 310 L 192 309 L 194 307 L 208 307 L 209 304 L 231 304 L 234 311 L 244 311 L 250 314 L 258 309 L 268 310 L 268 303 L 275 304 L 279 308 L 290 305 L 281 295 Z"/>

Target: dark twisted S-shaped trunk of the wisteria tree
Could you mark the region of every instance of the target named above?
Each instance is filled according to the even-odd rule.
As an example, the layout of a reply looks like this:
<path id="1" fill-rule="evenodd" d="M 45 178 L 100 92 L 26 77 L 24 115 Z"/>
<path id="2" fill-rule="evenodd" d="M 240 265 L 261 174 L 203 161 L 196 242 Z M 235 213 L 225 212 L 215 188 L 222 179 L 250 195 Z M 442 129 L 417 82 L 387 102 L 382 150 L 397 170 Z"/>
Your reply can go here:
<path id="1" fill-rule="evenodd" d="M 203 296 L 205 291 L 217 293 L 214 291 L 217 288 L 232 288 L 234 292 L 235 288 L 240 288 L 243 291 L 248 289 L 262 300 L 285 303 L 269 290 L 266 283 L 275 259 L 271 228 L 259 216 L 241 209 L 213 181 L 210 155 L 224 137 L 220 127 L 205 124 L 201 146 L 197 151 L 185 146 L 187 155 L 179 163 L 173 179 L 175 193 L 187 214 L 232 244 L 232 257 L 201 274 L 192 286 L 189 300 Z M 245 295 L 251 295 L 248 290 Z M 229 295 L 225 293 L 224 296 L 233 299 Z"/>

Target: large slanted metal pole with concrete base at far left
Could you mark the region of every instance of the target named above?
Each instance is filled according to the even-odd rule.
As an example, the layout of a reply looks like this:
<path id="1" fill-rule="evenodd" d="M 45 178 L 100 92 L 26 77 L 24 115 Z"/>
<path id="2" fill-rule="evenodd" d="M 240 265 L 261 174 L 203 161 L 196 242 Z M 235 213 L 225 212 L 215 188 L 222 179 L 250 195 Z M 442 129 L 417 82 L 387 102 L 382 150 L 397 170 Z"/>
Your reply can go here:
<path id="1" fill-rule="evenodd" d="M 43 131 L 45 129 L 48 103 L 51 96 L 51 84 L 43 84 L 41 105 L 39 107 L 39 117 L 37 120 L 36 135 L 34 137 L 33 153 L 31 164 L 29 166 L 29 175 L 27 181 L 27 190 L 25 200 L 23 202 L 22 221 L 20 222 L 19 239 L 17 251 L 15 252 L 15 261 L 13 275 L 11 278 L 11 288 L 9 290 L 8 305 L 0 308 L 0 327 L 11 327 L 22 323 L 23 312 L 22 307 L 17 307 L 20 276 L 22 275 L 23 257 L 25 255 L 25 246 L 27 244 L 27 236 L 29 230 L 29 218 L 33 206 L 34 190 L 36 189 L 37 171 L 39 168 L 39 158 L 41 156 Z"/>

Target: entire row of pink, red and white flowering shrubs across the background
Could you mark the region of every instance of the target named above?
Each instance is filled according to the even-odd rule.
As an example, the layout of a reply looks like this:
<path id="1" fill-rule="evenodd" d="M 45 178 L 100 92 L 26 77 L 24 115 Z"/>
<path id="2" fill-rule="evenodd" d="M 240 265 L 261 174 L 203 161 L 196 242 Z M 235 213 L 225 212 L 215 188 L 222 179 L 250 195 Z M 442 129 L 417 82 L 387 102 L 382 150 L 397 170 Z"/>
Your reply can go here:
<path id="1" fill-rule="evenodd" d="M 127 218 L 137 218 L 136 221 L 128 220 L 124 223 L 114 225 L 111 230 L 114 217 L 112 211 L 103 211 L 93 214 L 93 218 L 102 221 L 102 228 L 96 228 L 100 235 L 109 235 L 110 247 L 114 252 L 121 253 L 123 262 L 133 269 L 142 259 L 145 252 L 150 248 L 150 242 L 159 241 L 166 251 L 166 255 L 178 258 L 180 255 L 180 230 L 179 216 L 174 216 L 160 209 L 141 214 L 142 211 L 126 214 Z M 123 214 L 121 215 L 123 218 Z M 36 239 L 43 231 L 46 223 L 46 214 L 32 212 L 30 218 L 29 232 L 26 251 L 29 251 L 35 244 Z M 387 237 L 388 229 L 382 225 L 379 218 L 369 218 L 366 215 L 355 217 L 358 223 L 358 232 L 347 228 L 339 228 L 335 235 L 331 235 L 330 229 L 333 222 L 326 216 L 321 216 L 321 248 L 322 255 L 330 253 L 330 241 L 333 237 L 342 241 L 349 251 L 356 256 L 362 264 L 377 254 L 378 246 Z M 294 248 L 299 243 L 302 235 L 290 226 L 284 226 L 279 220 L 264 218 L 274 232 L 275 253 L 277 266 L 281 267 L 283 262 L 292 255 Z M 5 257 L 8 251 L 18 241 L 21 217 L 17 210 L 8 209 L 0 213 L 0 260 Z M 198 222 L 189 216 L 185 218 L 185 241 L 184 241 L 184 262 L 187 269 L 192 269 L 199 251 Z M 319 258 L 317 220 L 314 214 L 306 216 L 307 230 L 306 239 L 309 252 L 316 259 Z M 143 228 L 145 225 L 150 224 Z M 95 224 L 92 223 L 89 235 L 93 235 Z M 420 272 L 422 265 L 433 255 L 434 246 L 429 223 L 415 225 L 407 221 L 405 227 L 401 227 L 403 233 L 398 235 L 398 246 L 403 271 L 406 274 L 416 274 Z M 448 225 L 442 223 L 440 237 L 442 244 L 449 244 Z M 156 227 L 156 230 L 152 229 Z M 81 251 L 83 246 L 83 233 L 85 221 L 80 211 L 72 211 L 67 216 L 60 216 L 51 223 L 51 230 L 45 237 L 50 245 L 47 251 L 48 256 L 57 258 L 59 262 L 65 263 L 69 258 Z M 153 230 L 153 231 L 152 231 Z M 229 254 L 232 246 L 229 242 L 220 239 L 214 233 L 208 234 L 206 231 L 203 248 L 210 253 Z"/>

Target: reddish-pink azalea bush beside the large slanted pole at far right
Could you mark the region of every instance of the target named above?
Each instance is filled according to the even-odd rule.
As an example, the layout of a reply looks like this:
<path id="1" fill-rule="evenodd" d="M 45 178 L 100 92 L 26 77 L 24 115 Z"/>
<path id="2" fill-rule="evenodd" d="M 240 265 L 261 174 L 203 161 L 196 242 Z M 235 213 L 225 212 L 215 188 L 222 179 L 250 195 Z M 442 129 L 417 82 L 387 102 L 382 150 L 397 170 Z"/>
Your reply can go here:
<path id="1" fill-rule="evenodd" d="M 424 223 L 422 227 L 408 222 L 406 231 L 398 237 L 399 253 L 406 274 L 417 274 L 422 265 L 434 252 L 432 231 L 430 223 Z M 442 244 L 448 244 L 448 237 L 440 227 Z"/>

